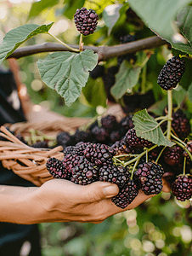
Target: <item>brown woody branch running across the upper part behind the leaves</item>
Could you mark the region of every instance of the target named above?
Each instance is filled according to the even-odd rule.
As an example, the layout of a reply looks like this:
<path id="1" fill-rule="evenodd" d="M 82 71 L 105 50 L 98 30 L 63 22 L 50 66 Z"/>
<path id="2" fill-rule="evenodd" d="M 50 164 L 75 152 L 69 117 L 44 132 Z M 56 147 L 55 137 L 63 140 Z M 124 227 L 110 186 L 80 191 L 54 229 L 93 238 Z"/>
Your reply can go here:
<path id="1" fill-rule="evenodd" d="M 131 42 L 127 44 L 119 44 L 114 46 L 96 47 L 96 46 L 84 45 L 83 49 L 92 49 L 94 52 L 96 52 L 99 55 L 99 61 L 104 61 L 120 55 L 136 53 L 144 49 L 157 48 L 163 44 L 168 44 L 168 43 L 167 41 L 162 40 L 157 36 L 154 36 L 150 38 L 140 39 L 135 42 Z M 75 49 L 79 49 L 79 45 L 70 44 L 70 46 Z M 44 52 L 54 52 L 54 51 L 69 51 L 69 49 L 62 44 L 54 44 L 54 43 L 37 44 L 37 45 L 26 46 L 20 49 L 15 49 L 15 51 L 11 55 L 9 55 L 8 58 L 20 59 L 22 57 L 29 56 L 29 55 L 35 55 L 35 54 L 44 53 Z"/>

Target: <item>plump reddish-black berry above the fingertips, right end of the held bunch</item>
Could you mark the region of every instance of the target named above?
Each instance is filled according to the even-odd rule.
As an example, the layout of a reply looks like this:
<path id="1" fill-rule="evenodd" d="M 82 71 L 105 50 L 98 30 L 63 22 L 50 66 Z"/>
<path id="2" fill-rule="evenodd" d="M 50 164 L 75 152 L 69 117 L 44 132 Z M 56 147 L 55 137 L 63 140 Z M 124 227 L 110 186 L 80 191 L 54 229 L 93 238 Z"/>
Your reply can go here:
<path id="1" fill-rule="evenodd" d="M 133 174 L 133 181 L 145 195 L 159 194 L 162 190 L 163 173 L 164 170 L 160 165 L 150 161 L 144 162 L 138 165 L 137 171 Z"/>

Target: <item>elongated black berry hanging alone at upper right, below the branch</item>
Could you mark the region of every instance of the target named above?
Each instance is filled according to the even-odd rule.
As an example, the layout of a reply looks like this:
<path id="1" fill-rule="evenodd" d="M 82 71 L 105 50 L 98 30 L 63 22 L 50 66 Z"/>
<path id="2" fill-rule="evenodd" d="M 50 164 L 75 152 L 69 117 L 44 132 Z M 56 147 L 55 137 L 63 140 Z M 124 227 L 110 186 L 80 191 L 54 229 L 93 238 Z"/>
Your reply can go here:
<path id="1" fill-rule="evenodd" d="M 184 60 L 181 60 L 179 56 L 173 56 L 161 69 L 157 84 L 159 84 L 163 90 L 172 90 L 182 79 L 185 67 Z"/>

